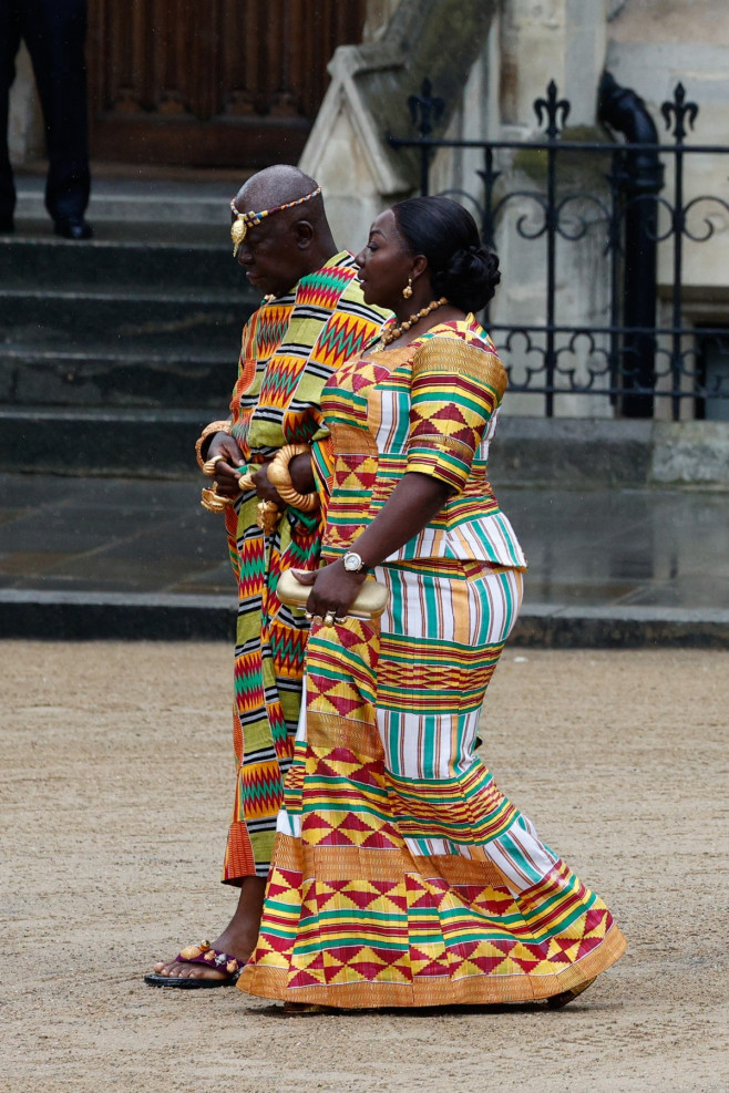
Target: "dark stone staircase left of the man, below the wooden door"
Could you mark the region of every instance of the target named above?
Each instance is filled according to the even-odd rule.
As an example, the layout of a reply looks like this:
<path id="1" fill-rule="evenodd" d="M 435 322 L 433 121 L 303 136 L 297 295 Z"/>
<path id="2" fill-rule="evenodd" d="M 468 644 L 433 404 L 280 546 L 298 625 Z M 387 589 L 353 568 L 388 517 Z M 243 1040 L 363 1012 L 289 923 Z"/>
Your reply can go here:
<path id="1" fill-rule="evenodd" d="M 68 243 L 20 187 L 0 238 L 0 468 L 177 476 L 225 416 L 258 298 L 233 261 L 230 183 L 94 188 L 95 238 Z"/>

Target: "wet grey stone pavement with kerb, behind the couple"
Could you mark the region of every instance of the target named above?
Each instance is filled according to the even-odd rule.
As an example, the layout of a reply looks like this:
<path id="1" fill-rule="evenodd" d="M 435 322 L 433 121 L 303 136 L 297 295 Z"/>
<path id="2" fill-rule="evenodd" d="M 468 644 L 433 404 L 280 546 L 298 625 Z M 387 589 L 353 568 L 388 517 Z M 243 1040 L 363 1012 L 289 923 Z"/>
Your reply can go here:
<path id="1" fill-rule="evenodd" d="M 533 643 L 579 643 L 566 630 L 562 639 L 540 638 L 547 619 L 572 619 L 572 631 L 583 620 L 584 643 L 593 643 L 587 631 L 596 623 L 603 645 L 606 636 L 630 643 L 628 623 L 648 627 L 644 643 L 663 640 L 666 627 L 672 643 L 681 633 L 687 643 L 729 641 L 726 493 L 497 494 L 530 560 L 520 623 L 527 643 L 530 627 Z M 198 499 L 195 481 L 0 475 L 0 636 L 57 637 L 60 627 L 61 635 L 97 637 L 104 606 L 107 621 L 114 610 L 124 617 L 126 637 L 136 636 L 135 612 L 138 636 L 174 636 L 174 618 L 187 619 L 181 636 L 227 633 L 235 597 L 223 523 Z M 84 605 L 95 612 L 84 616 Z"/>

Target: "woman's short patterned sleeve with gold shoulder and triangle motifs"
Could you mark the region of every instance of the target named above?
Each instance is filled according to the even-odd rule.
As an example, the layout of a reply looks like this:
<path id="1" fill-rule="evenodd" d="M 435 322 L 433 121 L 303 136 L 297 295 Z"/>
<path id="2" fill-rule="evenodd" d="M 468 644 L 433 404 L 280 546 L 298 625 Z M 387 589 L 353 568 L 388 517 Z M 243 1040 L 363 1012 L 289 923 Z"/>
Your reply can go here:
<path id="1" fill-rule="evenodd" d="M 460 492 L 505 389 L 495 353 L 446 334 L 424 341 L 412 362 L 407 471 Z"/>

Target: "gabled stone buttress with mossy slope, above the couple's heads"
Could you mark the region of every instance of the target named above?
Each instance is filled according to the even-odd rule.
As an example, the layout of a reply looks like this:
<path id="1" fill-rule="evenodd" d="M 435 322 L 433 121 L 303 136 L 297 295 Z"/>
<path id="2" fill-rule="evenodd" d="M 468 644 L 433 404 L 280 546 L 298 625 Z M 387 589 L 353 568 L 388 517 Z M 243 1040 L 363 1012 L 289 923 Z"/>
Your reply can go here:
<path id="1" fill-rule="evenodd" d="M 446 103 L 441 131 L 463 116 L 464 86 L 482 66 L 499 2 L 401 0 L 383 28 L 392 7 L 378 3 L 370 11 L 376 41 L 335 53 L 331 84 L 300 161 L 324 187 L 337 241 L 350 249 L 361 247 L 382 208 L 417 188 L 417 157 L 387 143 L 388 133 L 412 133 L 408 97 L 428 76 Z M 481 114 L 475 109 L 468 116 Z"/>

